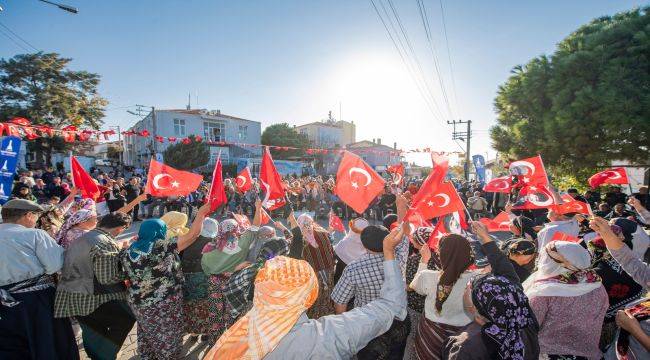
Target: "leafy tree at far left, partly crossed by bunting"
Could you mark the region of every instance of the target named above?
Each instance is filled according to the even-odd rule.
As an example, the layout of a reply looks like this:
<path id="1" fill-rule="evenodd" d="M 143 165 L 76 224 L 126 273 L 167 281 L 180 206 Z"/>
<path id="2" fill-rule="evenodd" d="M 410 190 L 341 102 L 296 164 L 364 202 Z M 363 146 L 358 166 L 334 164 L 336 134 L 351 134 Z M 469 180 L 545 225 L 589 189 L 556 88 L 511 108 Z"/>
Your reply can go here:
<path id="1" fill-rule="evenodd" d="M 0 121 L 20 116 L 56 129 L 99 129 L 108 104 L 97 93 L 100 76 L 68 69 L 71 61 L 43 52 L 0 59 Z M 49 164 L 52 151 L 66 148 L 58 136 L 30 142 L 38 165 Z"/>

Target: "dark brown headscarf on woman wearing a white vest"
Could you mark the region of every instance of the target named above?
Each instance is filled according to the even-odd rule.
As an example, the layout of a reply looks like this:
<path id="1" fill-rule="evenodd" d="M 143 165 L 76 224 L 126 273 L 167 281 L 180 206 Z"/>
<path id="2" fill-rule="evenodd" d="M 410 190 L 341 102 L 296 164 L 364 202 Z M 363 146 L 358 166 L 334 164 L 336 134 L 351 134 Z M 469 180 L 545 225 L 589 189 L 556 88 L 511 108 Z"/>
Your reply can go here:
<path id="1" fill-rule="evenodd" d="M 438 253 L 440 254 L 442 274 L 436 289 L 436 310 L 440 313 L 442 304 L 451 294 L 456 281 L 474 263 L 474 257 L 469 241 L 458 234 L 443 236 L 440 239 Z"/>

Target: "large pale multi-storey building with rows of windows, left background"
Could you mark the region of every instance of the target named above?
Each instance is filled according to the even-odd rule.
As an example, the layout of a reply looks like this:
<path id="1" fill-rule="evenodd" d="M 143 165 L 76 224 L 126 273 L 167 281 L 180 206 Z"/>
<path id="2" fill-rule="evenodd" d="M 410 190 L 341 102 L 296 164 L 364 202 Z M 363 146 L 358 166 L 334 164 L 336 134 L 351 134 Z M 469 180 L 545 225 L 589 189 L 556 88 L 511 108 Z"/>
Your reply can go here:
<path id="1" fill-rule="evenodd" d="M 175 137 L 178 142 L 190 135 L 199 135 L 207 142 L 228 143 L 224 146 L 210 145 L 209 164 L 216 162 L 219 152 L 224 163 L 240 158 L 258 157 L 261 154 L 259 147 L 232 145 L 260 145 L 261 123 L 222 114 L 219 110 L 155 110 L 129 130 L 137 133 L 145 129 L 151 136 L 125 136 L 125 165 L 144 166 L 153 156 L 159 156 L 157 154 L 162 154 L 172 144 L 168 138 Z M 164 141 L 157 142 L 156 136 L 164 137 Z"/>

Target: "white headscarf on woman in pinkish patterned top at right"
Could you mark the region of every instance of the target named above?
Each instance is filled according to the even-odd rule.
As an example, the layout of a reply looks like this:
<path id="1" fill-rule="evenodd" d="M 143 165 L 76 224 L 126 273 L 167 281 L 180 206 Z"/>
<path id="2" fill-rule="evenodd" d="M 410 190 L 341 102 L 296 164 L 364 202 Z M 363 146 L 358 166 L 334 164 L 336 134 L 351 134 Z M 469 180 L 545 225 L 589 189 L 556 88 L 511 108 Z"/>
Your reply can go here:
<path id="1" fill-rule="evenodd" d="M 555 245 L 555 250 L 566 260 L 560 264 L 548 254 L 548 248 Z M 587 249 L 569 241 L 553 241 L 539 252 L 537 271 L 534 272 L 523 284 L 526 296 L 560 296 L 573 297 L 587 294 L 600 286 L 601 281 L 580 281 L 577 284 L 568 284 L 556 281 L 544 281 L 564 273 L 587 270 L 591 266 L 591 255 Z"/>

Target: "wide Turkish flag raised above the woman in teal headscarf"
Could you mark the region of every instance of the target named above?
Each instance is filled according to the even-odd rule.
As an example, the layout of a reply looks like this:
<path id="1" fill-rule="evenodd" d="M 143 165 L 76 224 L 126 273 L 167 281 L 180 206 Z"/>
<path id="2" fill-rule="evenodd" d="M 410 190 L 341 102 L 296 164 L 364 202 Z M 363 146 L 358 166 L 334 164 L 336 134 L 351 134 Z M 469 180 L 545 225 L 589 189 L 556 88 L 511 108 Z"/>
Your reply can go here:
<path id="1" fill-rule="evenodd" d="M 188 171 L 176 170 L 171 166 L 151 159 L 145 194 L 154 197 L 186 196 L 196 191 L 203 176 Z"/>

